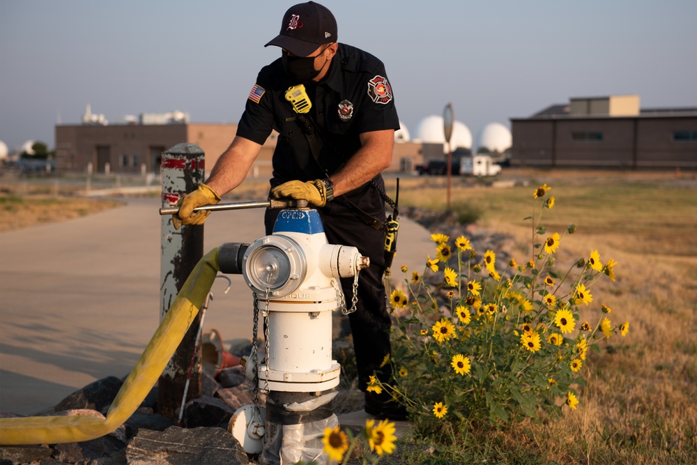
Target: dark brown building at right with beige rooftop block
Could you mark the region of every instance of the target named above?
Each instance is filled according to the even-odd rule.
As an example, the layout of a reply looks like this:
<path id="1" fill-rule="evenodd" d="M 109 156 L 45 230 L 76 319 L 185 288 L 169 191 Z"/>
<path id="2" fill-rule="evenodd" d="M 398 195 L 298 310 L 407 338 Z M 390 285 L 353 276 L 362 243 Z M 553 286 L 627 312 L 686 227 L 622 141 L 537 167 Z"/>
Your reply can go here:
<path id="1" fill-rule="evenodd" d="M 511 127 L 512 166 L 697 168 L 697 108 L 640 109 L 636 95 L 572 98 Z"/>

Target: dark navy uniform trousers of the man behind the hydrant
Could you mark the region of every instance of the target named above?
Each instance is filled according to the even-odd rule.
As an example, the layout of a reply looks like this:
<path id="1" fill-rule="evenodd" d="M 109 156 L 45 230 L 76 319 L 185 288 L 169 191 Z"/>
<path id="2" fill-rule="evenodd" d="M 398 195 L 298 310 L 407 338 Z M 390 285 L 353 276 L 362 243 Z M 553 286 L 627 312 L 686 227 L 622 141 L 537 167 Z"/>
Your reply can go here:
<path id="1" fill-rule="evenodd" d="M 360 208 L 381 221 L 385 220 L 382 200 L 370 199 Z M 365 391 L 369 376 L 378 372 L 378 378 L 387 381 L 389 365 L 380 368 L 385 356 L 390 353 L 390 315 L 385 301 L 383 273 L 385 271 L 385 234 L 365 224 L 348 204 L 336 199 L 328 206 L 318 208 L 330 244 L 357 247 L 360 254 L 369 257 L 370 266 L 358 275 L 358 303 L 356 311 L 348 315 L 353 335 L 353 349 L 358 367 L 358 386 Z M 280 210 L 267 209 L 264 222 L 266 234 L 271 234 Z M 353 277 L 342 278 L 346 307 L 351 308 Z"/>

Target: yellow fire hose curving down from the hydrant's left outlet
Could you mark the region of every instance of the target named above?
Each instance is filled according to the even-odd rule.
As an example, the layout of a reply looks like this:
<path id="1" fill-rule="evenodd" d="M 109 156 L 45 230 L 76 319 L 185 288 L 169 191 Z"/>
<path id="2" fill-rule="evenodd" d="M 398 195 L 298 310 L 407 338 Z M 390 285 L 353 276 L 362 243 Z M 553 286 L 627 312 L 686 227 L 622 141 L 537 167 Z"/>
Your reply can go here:
<path id="1" fill-rule="evenodd" d="M 208 296 L 217 272 L 218 248 L 194 267 L 169 307 L 140 359 L 124 381 L 106 418 L 92 416 L 47 416 L 0 418 L 0 445 L 57 444 L 89 441 L 105 436 L 128 420 L 158 381 L 183 339 L 189 321 Z"/>

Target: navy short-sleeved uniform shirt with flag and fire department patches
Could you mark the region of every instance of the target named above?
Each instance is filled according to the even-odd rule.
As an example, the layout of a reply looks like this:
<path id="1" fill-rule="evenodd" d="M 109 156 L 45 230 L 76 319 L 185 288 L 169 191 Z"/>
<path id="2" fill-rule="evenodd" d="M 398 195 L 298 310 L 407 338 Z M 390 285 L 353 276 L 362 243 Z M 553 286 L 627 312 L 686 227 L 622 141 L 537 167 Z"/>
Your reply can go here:
<path id="1" fill-rule="evenodd" d="M 358 151 L 362 132 L 399 129 L 383 63 L 358 48 L 339 44 L 324 79 L 305 84 L 312 101 L 309 116 L 321 139 L 317 160 L 302 121 L 285 98 L 286 90 L 295 84 L 284 72 L 281 59 L 262 68 L 238 125 L 237 135 L 257 144 L 263 144 L 272 129 L 279 133 L 273 153 L 272 187 L 296 179 L 326 178 Z M 359 192 L 351 194 L 348 197 L 362 197 Z"/>

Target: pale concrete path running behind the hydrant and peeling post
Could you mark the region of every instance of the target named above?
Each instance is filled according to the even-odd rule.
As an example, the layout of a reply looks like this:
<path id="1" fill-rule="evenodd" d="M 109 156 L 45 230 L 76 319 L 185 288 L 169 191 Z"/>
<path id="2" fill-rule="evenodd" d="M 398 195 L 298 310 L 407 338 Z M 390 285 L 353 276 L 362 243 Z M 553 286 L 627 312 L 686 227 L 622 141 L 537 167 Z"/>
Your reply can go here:
<path id="1" fill-rule="evenodd" d="M 0 234 L 0 411 L 31 415 L 105 376 L 128 374 L 159 324 L 160 199 Z M 263 236 L 263 209 L 215 212 L 204 252 Z M 394 275 L 424 269 L 428 231 L 401 218 Z M 252 336 L 241 276 L 213 285 L 204 330 Z"/>

